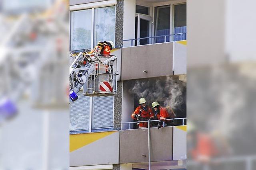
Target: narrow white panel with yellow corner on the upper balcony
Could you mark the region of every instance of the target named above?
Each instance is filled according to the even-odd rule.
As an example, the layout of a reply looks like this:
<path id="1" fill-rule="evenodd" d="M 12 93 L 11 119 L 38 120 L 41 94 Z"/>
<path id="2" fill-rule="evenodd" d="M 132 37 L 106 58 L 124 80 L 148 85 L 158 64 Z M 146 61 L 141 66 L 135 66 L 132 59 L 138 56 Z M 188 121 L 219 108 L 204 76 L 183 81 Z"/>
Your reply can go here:
<path id="1" fill-rule="evenodd" d="M 173 53 L 174 75 L 187 74 L 187 41 L 175 41 Z"/>

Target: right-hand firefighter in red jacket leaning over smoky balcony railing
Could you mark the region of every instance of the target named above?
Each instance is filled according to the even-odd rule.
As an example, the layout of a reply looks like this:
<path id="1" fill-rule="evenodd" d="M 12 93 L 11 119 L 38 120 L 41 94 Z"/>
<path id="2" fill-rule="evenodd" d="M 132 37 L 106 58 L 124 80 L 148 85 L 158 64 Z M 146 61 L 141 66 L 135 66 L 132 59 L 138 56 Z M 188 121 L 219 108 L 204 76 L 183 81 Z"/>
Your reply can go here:
<path id="1" fill-rule="evenodd" d="M 153 108 L 153 111 L 154 111 L 157 119 L 159 120 L 158 124 L 157 124 L 157 128 L 159 129 L 162 127 L 163 122 L 169 118 L 169 113 L 165 107 L 160 107 L 160 104 L 158 102 L 153 102 L 152 108 Z"/>

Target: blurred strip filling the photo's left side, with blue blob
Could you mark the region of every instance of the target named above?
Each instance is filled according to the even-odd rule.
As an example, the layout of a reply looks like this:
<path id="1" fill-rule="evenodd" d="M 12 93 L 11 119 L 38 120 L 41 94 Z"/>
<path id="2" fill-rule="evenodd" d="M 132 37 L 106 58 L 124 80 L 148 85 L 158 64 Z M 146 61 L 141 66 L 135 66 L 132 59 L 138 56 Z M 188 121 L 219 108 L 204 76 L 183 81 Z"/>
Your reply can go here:
<path id="1" fill-rule="evenodd" d="M 68 1 L 1 11 L 0 169 L 68 169 Z"/>

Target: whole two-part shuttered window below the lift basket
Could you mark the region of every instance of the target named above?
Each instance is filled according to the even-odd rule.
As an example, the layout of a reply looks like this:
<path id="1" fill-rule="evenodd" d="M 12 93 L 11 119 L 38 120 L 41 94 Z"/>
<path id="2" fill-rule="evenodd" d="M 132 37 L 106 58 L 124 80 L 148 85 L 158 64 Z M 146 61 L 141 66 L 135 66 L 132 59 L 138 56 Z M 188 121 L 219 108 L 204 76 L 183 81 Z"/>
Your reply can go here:
<path id="1" fill-rule="evenodd" d="M 113 130 L 114 96 L 88 97 L 78 92 L 70 104 L 71 133 Z"/>

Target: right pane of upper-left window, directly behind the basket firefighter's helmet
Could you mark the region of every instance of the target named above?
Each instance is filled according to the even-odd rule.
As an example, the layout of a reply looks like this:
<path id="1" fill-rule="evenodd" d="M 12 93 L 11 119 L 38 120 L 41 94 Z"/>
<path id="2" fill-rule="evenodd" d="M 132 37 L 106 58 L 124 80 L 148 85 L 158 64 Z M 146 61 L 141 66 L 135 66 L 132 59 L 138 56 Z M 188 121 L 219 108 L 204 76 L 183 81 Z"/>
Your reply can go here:
<path id="1" fill-rule="evenodd" d="M 94 10 L 94 46 L 98 41 L 115 42 L 115 6 Z"/>

